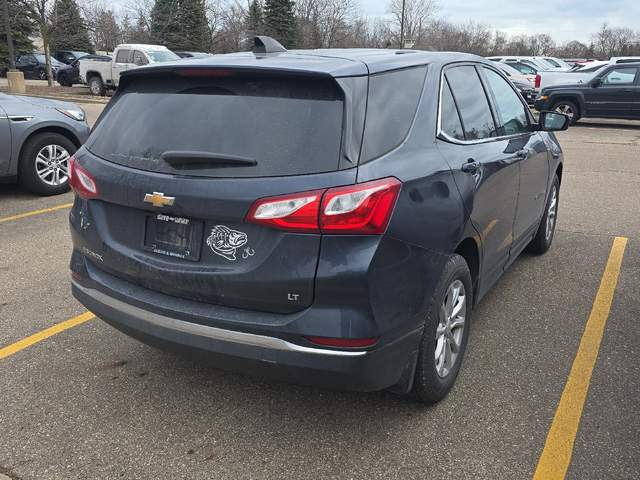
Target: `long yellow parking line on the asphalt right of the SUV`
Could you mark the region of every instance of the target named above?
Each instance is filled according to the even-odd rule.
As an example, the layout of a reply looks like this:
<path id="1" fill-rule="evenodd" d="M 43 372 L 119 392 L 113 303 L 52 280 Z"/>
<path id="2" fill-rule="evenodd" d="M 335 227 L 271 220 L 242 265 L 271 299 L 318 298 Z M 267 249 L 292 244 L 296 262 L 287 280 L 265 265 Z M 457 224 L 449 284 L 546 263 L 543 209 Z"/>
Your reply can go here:
<path id="1" fill-rule="evenodd" d="M 562 392 L 558 410 L 553 418 L 544 450 L 533 475 L 534 480 L 563 479 L 569 468 L 582 407 L 587 397 L 591 373 L 598 358 L 598 350 L 611 310 L 613 292 L 618 283 L 626 245 L 626 238 L 616 237 L 613 241 L 609 261 L 604 270 L 596 300 L 593 302 L 591 315 L 578 347 L 578 354 L 573 361 L 569 379 L 564 387 L 564 392 Z"/>

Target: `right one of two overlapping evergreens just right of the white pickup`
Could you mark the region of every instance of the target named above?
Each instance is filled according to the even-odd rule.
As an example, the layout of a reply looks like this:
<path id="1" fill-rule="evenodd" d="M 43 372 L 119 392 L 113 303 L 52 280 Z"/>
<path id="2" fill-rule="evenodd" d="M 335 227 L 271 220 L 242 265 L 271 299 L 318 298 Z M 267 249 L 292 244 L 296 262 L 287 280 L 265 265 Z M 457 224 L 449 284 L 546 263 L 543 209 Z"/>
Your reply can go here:
<path id="1" fill-rule="evenodd" d="M 205 52 L 207 50 L 207 9 L 204 0 L 180 0 L 177 27 L 180 35 L 171 50 Z"/>

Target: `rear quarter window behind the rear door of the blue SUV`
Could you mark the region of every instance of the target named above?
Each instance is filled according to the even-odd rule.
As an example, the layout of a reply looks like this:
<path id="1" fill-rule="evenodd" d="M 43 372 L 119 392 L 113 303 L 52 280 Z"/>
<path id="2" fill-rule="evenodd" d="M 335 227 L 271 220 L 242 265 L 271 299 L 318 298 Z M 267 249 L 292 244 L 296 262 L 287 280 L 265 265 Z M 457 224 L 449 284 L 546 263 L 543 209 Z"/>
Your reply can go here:
<path id="1" fill-rule="evenodd" d="M 371 76 L 362 162 L 384 155 L 405 139 L 426 73 L 426 67 L 419 67 Z"/>

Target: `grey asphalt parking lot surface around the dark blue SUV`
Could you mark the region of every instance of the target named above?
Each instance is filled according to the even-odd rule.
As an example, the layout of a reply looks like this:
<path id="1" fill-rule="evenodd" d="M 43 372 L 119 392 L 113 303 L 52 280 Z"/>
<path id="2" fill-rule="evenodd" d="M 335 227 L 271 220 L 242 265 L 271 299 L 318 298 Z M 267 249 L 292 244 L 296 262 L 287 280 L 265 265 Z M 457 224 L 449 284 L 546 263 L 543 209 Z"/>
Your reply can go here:
<path id="1" fill-rule="evenodd" d="M 102 107 L 83 108 L 94 121 Z M 0 472 L 532 478 L 545 444 L 550 458 L 561 455 L 547 437 L 552 424 L 570 428 L 556 412 L 580 351 L 597 361 L 584 407 L 565 404 L 580 419 L 566 478 L 640 478 L 640 122 L 585 120 L 558 137 L 565 169 L 554 244 L 544 256 L 523 254 L 483 299 L 458 381 L 431 408 L 194 364 L 90 315 L 12 347 L 86 311 L 70 292 L 72 195 L 0 185 Z M 628 239 L 623 252 L 616 237 Z M 604 274 L 616 252 L 614 291 Z M 608 317 L 593 308 L 607 281 Z M 595 351 L 579 349 L 592 309 L 606 320 Z"/>

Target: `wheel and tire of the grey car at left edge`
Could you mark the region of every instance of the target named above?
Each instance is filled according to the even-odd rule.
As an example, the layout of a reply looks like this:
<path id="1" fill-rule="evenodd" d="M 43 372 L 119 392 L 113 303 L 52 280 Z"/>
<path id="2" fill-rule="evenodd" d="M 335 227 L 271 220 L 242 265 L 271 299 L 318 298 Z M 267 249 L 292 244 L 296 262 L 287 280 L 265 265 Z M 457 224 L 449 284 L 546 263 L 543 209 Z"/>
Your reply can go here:
<path id="1" fill-rule="evenodd" d="M 20 183 L 27 190 L 43 196 L 69 191 L 69 158 L 76 150 L 71 140 L 58 133 L 35 134 L 24 143 L 20 152 Z"/>

